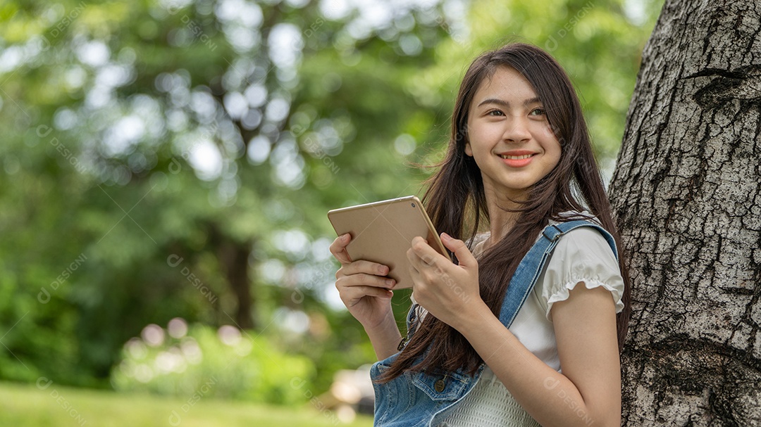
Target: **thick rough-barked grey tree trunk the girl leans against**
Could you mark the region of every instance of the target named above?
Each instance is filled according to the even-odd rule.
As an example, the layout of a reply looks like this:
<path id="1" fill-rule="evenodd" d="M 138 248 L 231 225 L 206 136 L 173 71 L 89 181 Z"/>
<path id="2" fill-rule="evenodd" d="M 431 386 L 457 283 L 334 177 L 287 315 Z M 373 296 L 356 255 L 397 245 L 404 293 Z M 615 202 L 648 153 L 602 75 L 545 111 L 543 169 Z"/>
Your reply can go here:
<path id="1" fill-rule="evenodd" d="M 761 3 L 667 0 L 610 188 L 623 425 L 761 425 Z"/>

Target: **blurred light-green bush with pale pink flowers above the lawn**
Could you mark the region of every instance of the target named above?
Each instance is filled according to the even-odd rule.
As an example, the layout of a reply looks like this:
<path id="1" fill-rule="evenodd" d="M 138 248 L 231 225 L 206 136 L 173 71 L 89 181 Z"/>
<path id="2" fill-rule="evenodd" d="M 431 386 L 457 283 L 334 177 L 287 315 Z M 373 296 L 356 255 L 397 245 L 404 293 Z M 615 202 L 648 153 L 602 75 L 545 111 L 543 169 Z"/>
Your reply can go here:
<path id="1" fill-rule="evenodd" d="M 117 391 L 290 404 L 307 400 L 313 377 L 309 359 L 267 337 L 229 325 L 187 327 L 175 318 L 167 329 L 149 324 L 124 344 L 111 383 Z"/>

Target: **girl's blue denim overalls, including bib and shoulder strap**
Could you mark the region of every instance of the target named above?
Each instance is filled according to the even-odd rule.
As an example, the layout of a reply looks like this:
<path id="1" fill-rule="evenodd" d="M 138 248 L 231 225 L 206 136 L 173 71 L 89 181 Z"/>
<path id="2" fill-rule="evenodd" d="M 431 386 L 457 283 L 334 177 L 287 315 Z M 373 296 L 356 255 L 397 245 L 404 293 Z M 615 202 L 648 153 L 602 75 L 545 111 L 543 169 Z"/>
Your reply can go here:
<path id="1" fill-rule="evenodd" d="M 607 240 L 613 254 L 618 258 L 613 236 L 597 223 L 574 220 L 546 226 L 542 236 L 530 248 L 518 264 L 502 302 L 499 320 L 510 327 L 521 305 L 526 301 L 533 286 L 542 273 L 552 249 L 566 232 L 578 227 L 597 229 Z M 414 307 L 407 315 L 409 335 L 414 332 Z M 411 325 L 412 324 L 412 325 Z M 410 327 L 412 326 L 412 330 Z M 408 337 L 409 337 L 408 335 Z M 375 362 L 370 369 L 370 377 L 375 380 L 386 372 L 399 353 Z M 419 362 L 416 361 L 416 362 Z M 484 365 L 479 366 L 476 375 L 467 375 L 461 370 L 455 372 L 405 372 L 385 384 L 373 383 L 375 389 L 376 427 L 424 427 L 438 425 L 454 411 L 457 403 L 473 389 L 478 382 Z"/>

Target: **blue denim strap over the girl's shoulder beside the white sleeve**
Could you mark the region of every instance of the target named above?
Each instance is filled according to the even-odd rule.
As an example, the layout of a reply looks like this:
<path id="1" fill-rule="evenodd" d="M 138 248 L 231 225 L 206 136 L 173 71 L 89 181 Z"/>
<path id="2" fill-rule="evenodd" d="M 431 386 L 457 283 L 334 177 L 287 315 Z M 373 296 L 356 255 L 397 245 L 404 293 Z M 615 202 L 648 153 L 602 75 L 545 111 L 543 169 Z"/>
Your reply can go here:
<path id="1" fill-rule="evenodd" d="M 618 259 L 616 241 L 613 239 L 613 236 L 610 235 L 610 232 L 607 232 L 606 229 L 603 229 L 603 227 L 597 223 L 588 220 L 574 220 L 568 221 L 567 223 L 546 226 L 542 231 L 542 236 L 540 236 L 539 240 L 537 240 L 537 242 L 529 249 L 526 256 L 521 260 L 521 264 L 518 264 L 518 267 L 510 280 L 508 290 L 505 293 L 505 300 L 502 302 L 502 308 L 499 313 L 499 320 L 505 325 L 505 327 L 510 327 L 515 320 L 518 310 L 520 310 L 521 306 L 526 302 L 534 284 L 537 283 L 537 279 L 539 279 L 540 274 L 542 274 L 544 264 L 546 264 L 549 255 L 552 254 L 552 250 L 558 244 L 559 239 L 566 232 L 579 227 L 592 227 L 597 229 L 608 242 L 610 248 L 613 249 L 613 254 L 615 254 L 616 259 Z"/>

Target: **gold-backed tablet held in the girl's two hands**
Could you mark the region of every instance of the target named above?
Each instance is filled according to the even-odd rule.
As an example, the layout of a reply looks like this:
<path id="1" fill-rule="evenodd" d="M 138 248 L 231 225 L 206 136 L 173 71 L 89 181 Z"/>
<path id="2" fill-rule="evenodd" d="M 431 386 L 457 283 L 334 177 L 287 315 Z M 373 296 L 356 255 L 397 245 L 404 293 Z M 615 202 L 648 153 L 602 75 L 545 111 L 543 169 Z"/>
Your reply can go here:
<path id="1" fill-rule="evenodd" d="M 352 261 L 373 261 L 389 267 L 387 277 L 396 280 L 393 289 L 412 287 L 407 250 L 416 236 L 451 259 L 416 196 L 330 210 L 328 219 L 339 236 L 347 232 L 352 235 L 346 246 Z"/>

